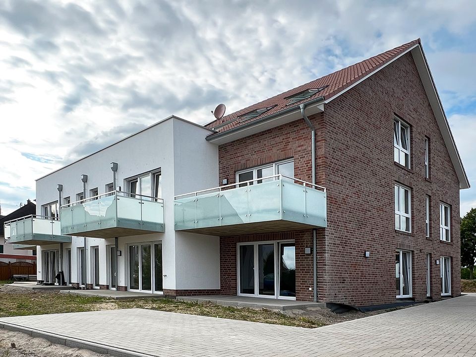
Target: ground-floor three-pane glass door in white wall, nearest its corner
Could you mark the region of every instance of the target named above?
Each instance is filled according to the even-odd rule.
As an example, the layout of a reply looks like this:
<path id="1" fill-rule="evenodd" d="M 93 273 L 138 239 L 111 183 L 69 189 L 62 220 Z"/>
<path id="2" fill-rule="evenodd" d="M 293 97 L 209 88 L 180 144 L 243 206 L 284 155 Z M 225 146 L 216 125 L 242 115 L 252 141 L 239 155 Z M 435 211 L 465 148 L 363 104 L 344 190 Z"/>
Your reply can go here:
<path id="1" fill-rule="evenodd" d="M 129 290 L 144 293 L 162 293 L 162 243 L 130 244 Z"/>

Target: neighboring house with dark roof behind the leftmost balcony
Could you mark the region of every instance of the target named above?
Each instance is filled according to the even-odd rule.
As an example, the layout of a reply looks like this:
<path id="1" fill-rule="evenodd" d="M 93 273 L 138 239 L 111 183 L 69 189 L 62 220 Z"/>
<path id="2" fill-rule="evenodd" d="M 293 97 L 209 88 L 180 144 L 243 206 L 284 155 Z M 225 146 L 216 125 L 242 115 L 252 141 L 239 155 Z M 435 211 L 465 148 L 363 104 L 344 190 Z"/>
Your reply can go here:
<path id="1" fill-rule="evenodd" d="M 36 205 L 28 200 L 25 205 L 21 206 L 12 213 L 1 216 L 0 218 L 0 261 L 5 263 L 13 263 L 17 261 L 31 262 L 36 260 L 36 246 L 14 246 L 13 244 L 5 244 L 5 235 L 3 224 L 5 222 L 15 220 L 21 217 L 36 214 Z M 30 249 L 26 249 L 30 248 Z"/>

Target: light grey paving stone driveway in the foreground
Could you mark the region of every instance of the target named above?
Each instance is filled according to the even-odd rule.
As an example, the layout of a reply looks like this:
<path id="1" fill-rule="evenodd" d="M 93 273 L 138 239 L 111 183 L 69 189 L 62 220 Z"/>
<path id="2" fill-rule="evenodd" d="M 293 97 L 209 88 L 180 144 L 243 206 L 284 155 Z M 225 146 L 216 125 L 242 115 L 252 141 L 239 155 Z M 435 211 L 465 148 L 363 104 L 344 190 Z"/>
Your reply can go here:
<path id="1" fill-rule="evenodd" d="M 312 330 L 144 309 L 7 324 L 129 356 L 476 356 L 476 294 Z"/>

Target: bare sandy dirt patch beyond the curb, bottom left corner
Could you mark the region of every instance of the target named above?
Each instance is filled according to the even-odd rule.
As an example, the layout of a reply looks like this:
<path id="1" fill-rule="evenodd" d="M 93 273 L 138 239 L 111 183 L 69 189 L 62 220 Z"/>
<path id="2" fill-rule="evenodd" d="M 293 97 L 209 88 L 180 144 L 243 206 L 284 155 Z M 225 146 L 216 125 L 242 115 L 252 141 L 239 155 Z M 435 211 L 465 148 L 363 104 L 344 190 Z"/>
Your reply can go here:
<path id="1" fill-rule="evenodd" d="M 14 345 L 12 345 L 14 344 Z M 12 347 L 14 346 L 14 347 Z M 52 344 L 21 332 L 0 330 L 0 357 L 105 357 L 92 351 Z"/>

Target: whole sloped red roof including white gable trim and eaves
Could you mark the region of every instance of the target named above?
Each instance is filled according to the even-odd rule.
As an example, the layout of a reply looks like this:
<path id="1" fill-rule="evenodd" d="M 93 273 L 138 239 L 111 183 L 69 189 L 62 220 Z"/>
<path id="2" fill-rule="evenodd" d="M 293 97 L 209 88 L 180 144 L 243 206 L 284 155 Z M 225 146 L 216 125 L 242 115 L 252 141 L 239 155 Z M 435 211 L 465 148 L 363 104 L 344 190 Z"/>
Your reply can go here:
<path id="1" fill-rule="evenodd" d="M 285 113 L 296 113 L 299 111 L 298 106 L 302 103 L 329 103 L 340 94 L 357 85 L 360 81 L 368 78 L 394 60 L 398 60 L 398 58 L 406 53 L 411 53 L 415 60 L 430 106 L 433 110 L 453 163 L 453 167 L 455 168 L 460 181 L 460 188 L 469 188 L 471 185 L 468 176 L 466 175 L 463 162 L 461 161 L 458 148 L 456 147 L 455 139 L 451 133 L 450 125 L 446 118 L 441 99 L 436 90 L 435 82 L 431 75 L 420 39 L 416 39 L 380 55 L 363 60 L 347 68 L 328 74 L 262 102 L 253 104 L 252 106 L 244 108 L 238 112 L 229 114 L 222 119 L 213 120 L 205 125 L 214 130 L 212 134 L 207 136 L 207 140 L 215 143 L 222 141 L 221 143 L 223 143 L 227 142 L 227 140 L 233 140 L 234 135 L 235 139 L 243 137 L 246 134 L 244 131 L 243 133 L 239 133 L 239 131 L 242 131 L 245 128 L 248 129 L 249 127 L 257 127 L 261 125 L 262 122 L 271 118 L 274 120 L 276 117 L 283 117 Z M 289 100 L 290 97 L 309 90 L 315 90 L 315 92 L 300 101 Z M 258 111 L 260 109 L 261 111 Z M 257 111 L 257 113 L 255 113 L 257 115 L 244 116 L 253 111 Z M 276 122 L 279 123 L 279 121 Z M 266 127 L 267 126 L 262 125 L 262 128 L 266 129 Z M 258 128 L 257 130 L 262 129 Z M 257 130 L 254 132 L 258 132 Z M 235 133 L 238 133 L 238 136 Z"/>

